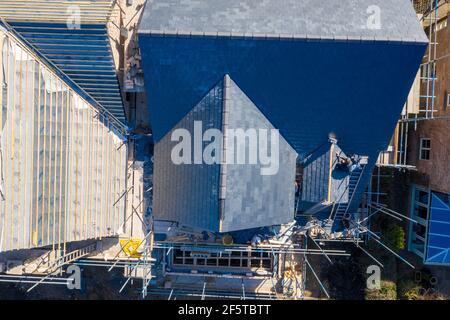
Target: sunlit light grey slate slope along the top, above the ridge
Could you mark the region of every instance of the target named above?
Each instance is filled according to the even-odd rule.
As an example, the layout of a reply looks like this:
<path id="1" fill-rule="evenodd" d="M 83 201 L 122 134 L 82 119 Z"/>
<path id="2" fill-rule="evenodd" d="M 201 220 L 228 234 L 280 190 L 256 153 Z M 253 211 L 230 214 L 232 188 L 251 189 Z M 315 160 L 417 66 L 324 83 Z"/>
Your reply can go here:
<path id="1" fill-rule="evenodd" d="M 149 0 L 139 32 L 428 41 L 410 0 Z"/>

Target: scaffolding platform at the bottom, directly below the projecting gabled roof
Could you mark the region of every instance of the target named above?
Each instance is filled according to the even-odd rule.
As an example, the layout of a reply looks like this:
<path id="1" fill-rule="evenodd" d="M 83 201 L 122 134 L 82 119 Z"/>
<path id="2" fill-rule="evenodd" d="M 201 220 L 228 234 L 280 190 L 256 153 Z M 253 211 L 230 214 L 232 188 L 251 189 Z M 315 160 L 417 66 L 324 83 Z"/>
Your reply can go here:
<path id="1" fill-rule="evenodd" d="M 307 248 L 307 239 L 304 230 L 294 223 L 286 226 L 283 232 L 264 243 L 252 245 L 225 246 L 214 242 L 157 241 L 154 250 L 159 252 L 159 255 L 156 255 L 161 257 L 160 262 L 157 263 L 162 269 L 160 278 L 195 277 L 199 280 L 203 279 L 203 282 L 197 281 L 198 285 L 203 285 L 202 288 L 189 290 L 185 286 L 165 288 L 153 285 L 148 289 L 148 293 L 166 296 L 169 300 L 174 296 L 197 296 L 202 299 L 220 296 L 226 299 L 242 300 L 256 298 L 303 300 L 307 299 L 304 293 L 306 268 L 309 268 L 308 272 L 310 270 L 315 274 L 314 278 L 318 281 L 319 287 L 325 296 L 329 297 L 324 284 L 308 261 L 308 256 L 324 257 L 331 263 L 330 257 L 348 257 L 350 254 L 345 250 L 324 249 L 314 239 L 311 241 L 316 247 Z M 233 279 L 235 282 L 241 281 L 242 287 L 239 293 L 238 290 L 225 293 L 220 290 L 220 286 L 208 285 L 207 279 L 218 279 L 215 281 Z M 254 281 L 261 282 L 258 291 L 250 286 L 250 283 Z"/>

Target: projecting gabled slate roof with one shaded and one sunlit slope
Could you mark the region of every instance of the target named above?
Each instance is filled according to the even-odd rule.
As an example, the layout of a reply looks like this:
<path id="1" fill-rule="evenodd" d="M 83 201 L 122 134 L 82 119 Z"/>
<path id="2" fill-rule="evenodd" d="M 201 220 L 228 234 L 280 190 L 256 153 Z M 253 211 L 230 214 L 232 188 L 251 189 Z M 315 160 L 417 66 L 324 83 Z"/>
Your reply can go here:
<path id="1" fill-rule="evenodd" d="M 172 133 L 183 128 L 193 136 L 194 121 L 202 121 L 203 130 L 274 129 L 242 90 L 225 76 L 155 146 L 155 218 L 214 232 L 291 222 L 297 157 L 294 149 L 280 137 L 279 170 L 275 175 L 261 175 L 259 163 L 175 165 L 171 153 L 177 142 L 171 141 Z M 231 153 L 225 153 L 229 159 Z"/>

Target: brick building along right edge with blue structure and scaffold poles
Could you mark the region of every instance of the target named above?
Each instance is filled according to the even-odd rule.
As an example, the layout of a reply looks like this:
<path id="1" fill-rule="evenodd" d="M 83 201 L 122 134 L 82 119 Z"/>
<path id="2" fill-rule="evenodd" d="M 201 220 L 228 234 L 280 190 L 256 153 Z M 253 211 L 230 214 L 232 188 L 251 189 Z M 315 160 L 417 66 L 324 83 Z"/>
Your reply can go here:
<path id="1" fill-rule="evenodd" d="M 449 1 L 414 1 L 428 49 L 402 111 L 382 170 L 402 171 L 411 218 L 408 250 L 430 268 L 447 266 L 449 185 Z M 383 179 L 381 179 L 382 182 Z"/>

